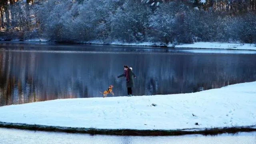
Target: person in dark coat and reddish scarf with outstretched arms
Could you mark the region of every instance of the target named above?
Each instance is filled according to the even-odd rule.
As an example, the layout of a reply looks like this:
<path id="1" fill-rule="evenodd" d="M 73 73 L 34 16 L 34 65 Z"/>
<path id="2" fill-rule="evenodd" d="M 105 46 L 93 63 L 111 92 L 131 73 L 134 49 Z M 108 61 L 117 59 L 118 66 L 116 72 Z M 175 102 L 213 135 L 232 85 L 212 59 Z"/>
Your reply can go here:
<path id="1" fill-rule="evenodd" d="M 136 78 L 136 75 L 132 72 L 132 68 L 129 66 L 124 66 L 124 74 L 121 74 L 117 78 L 125 77 L 126 87 L 128 96 L 132 96 L 132 88 L 134 87 L 133 77 Z"/>

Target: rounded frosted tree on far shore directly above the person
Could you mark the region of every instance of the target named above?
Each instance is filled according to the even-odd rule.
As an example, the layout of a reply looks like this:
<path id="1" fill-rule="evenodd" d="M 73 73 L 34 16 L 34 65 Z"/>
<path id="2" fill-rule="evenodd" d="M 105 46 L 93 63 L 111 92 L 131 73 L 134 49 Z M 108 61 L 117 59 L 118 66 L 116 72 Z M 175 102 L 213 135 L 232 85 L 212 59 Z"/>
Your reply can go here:
<path id="1" fill-rule="evenodd" d="M 111 16 L 112 38 L 126 42 L 145 41 L 151 13 L 145 4 L 137 0 L 127 0 Z"/>

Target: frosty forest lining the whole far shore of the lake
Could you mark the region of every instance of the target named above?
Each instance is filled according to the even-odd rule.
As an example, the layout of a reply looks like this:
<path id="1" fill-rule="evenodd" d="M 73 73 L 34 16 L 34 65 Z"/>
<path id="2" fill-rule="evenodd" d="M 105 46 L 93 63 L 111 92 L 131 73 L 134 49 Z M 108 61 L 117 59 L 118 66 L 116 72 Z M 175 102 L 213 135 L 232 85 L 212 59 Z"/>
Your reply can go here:
<path id="1" fill-rule="evenodd" d="M 0 0 L 0 38 L 256 42 L 256 0 Z"/>

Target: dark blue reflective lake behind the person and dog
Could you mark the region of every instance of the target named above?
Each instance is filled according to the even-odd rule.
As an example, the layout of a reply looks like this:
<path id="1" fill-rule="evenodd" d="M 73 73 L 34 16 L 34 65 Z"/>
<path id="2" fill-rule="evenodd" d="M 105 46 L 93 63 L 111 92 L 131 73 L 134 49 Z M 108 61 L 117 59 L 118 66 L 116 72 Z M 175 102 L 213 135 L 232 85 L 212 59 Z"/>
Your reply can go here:
<path id="1" fill-rule="evenodd" d="M 253 51 L 0 42 L 0 106 L 101 97 L 110 84 L 115 96 L 126 96 L 124 78 L 116 78 L 124 64 L 137 75 L 133 95 L 141 96 L 252 82 L 255 62 Z"/>

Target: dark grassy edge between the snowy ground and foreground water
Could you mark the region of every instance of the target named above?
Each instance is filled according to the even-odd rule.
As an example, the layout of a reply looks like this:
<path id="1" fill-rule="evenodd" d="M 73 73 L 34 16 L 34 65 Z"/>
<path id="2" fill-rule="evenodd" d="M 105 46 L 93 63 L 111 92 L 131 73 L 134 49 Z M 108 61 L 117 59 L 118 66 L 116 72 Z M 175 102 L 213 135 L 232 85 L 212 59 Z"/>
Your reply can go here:
<path id="1" fill-rule="evenodd" d="M 97 129 L 97 128 L 71 128 L 60 126 L 44 126 L 32 124 L 18 124 L 0 122 L 0 128 L 16 128 L 22 130 L 38 130 L 47 132 L 67 132 L 84 134 L 103 134 L 118 136 L 179 136 L 185 134 L 218 135 L 224 133 L 236 134 L 237 132 L 253 132 L 253 126 L 224 127 L 224 128 L 199 128 L 183 130 L 132 130 L 132 129 Z"/>

